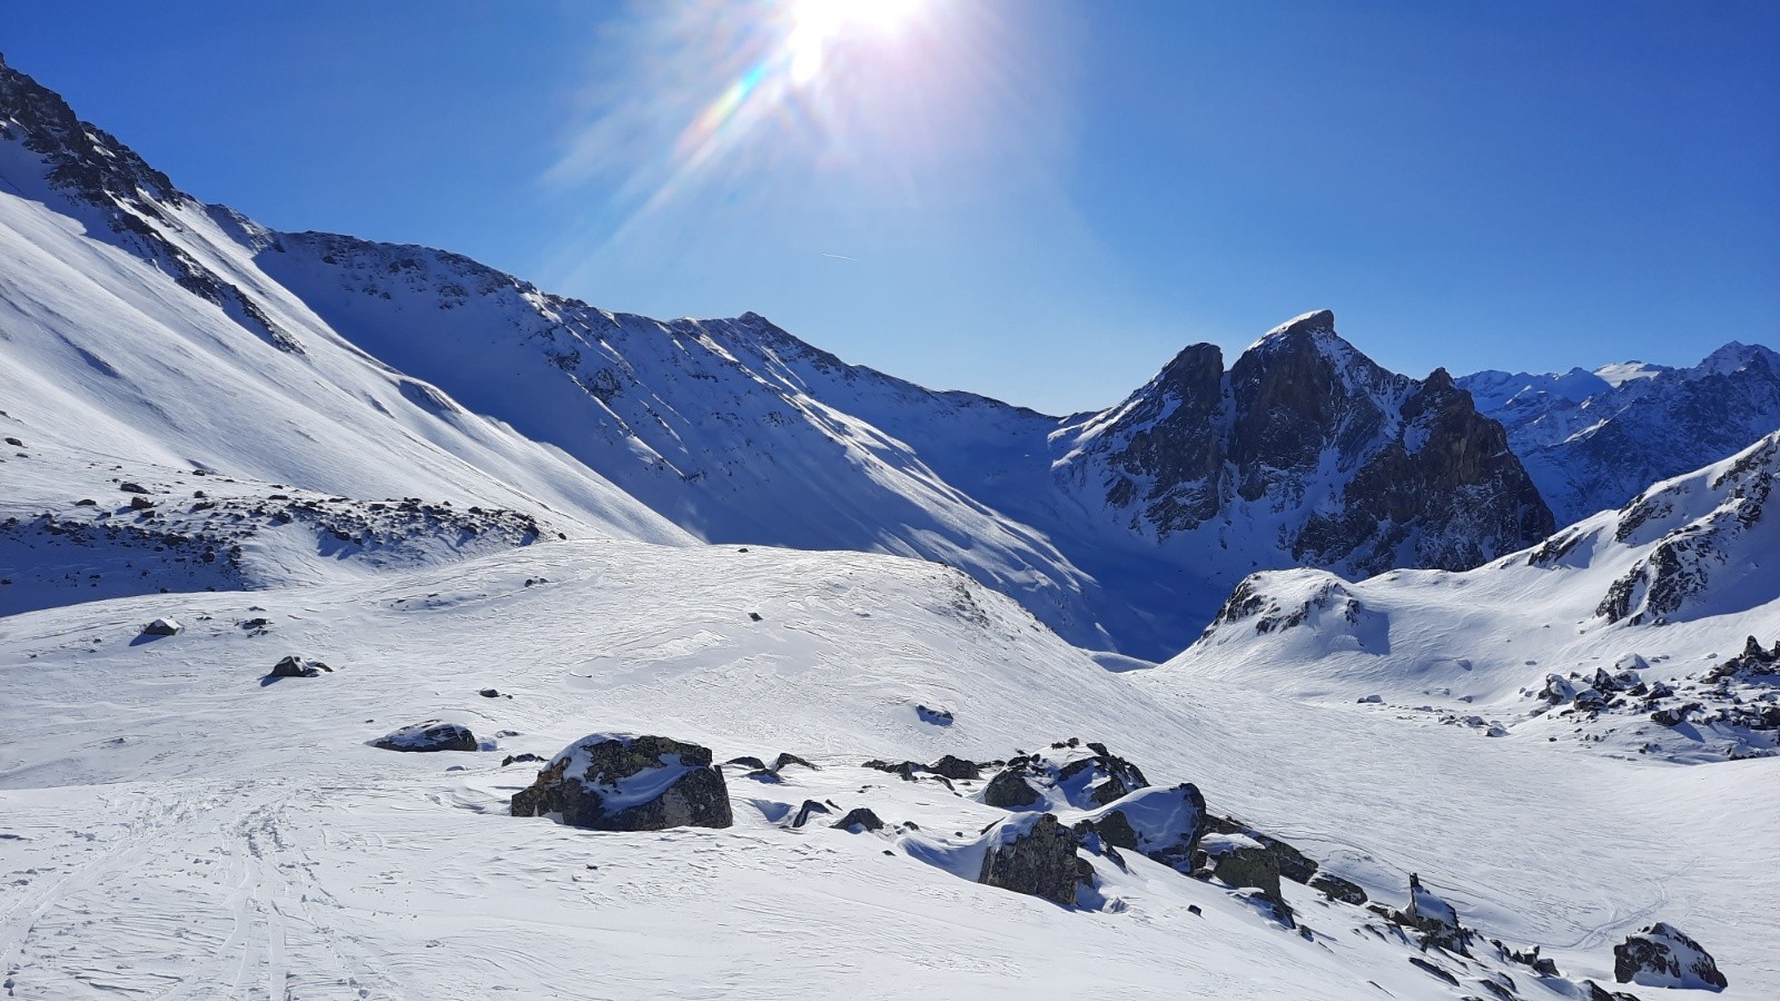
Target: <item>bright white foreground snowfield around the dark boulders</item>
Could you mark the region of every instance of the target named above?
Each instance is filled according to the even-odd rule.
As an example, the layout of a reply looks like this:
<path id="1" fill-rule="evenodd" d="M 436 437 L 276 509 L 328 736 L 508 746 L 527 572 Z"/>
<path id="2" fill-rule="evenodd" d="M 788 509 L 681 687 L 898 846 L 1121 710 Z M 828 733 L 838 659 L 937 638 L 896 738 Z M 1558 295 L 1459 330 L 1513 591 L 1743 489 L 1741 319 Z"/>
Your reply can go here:
<path id="1" fill-rule="evenodd" d="M 153 616 L 187 629 L 134 643 Z M 251 618 L 269 625 L 240 629 Z M 1177 698 L 917 561 L 568 541 L 0 631 L 0 964 L 21 997 L 1461 997 L 1499 974 L 1517 997 L 1579 997 L 1657 919 L 1711 949 L 1727 997 L 1780 989 L 1780 928 L 1748 907 L 1780 883 L 1746 866 L 1780 821 L 1773 761 L 1664 769 L 1241 688 Z M 335 670 L 265 684 L 285 654 Z M 367 746 L 422 720 L 466 723 L 491 750 Z M 506 816 L 538 768 L 507 755 L 600 730 L 821 771 L 726 768 L 728 830 Z M 1107 741 L 1157 785 L 1196 782 L 1214 812 L 1388 907 L 1419 873 L 1483 935 L 1474 958 L 1287 883 L 1307 939 L 1136 853 L 1096 860 L 1091 907 L 984 887 L 961 873 L 1007 814 L 977 784 L 860 768 L 1064 736 Z M 789 828 L 812 798 L 892 826 Z M 1716 819 L 1728 802 L 1737 823 Z M 1541 944 L 1565 978 L 1485 939 Z"/>

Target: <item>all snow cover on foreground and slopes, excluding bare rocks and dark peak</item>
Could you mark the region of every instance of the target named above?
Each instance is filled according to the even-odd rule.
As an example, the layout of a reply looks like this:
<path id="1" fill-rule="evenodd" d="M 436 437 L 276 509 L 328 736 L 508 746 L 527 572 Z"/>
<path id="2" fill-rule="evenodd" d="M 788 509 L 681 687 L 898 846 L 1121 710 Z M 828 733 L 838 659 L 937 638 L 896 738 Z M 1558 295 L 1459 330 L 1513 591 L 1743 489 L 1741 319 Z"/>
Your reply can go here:
<path id="1" fill-rule="evenodd" d="M 1600 515 L 1536 566 L 1264 575 L 1257 614 L 1298 623 L 1219 623 L 1152 668 L 1082 648 L 1129 593 L 1112 570 L 1153 588 L 1127 614 L 1191 632 L 1182 609 L 1216 604 L 1278 520 L 1244 513 L 1200 577 L 1184 554 L 1209 538 L 1134 556 L 1093 492 L 1052 486 L 1088 415 L 929 394 L 758 317 L 600 313 L 452 255 L 271 233 L 166 192 L 144 194 L 164 208 L 139 216 L 166 240 L 148 253 L 46 189 L 16 135 L 0 176 L 0 429 L 23 442 L 0 456 L 14 997 L 1372 999 L 1479 994 L 1508 971 L 1527 997 L 1574 997 L 1654 921 L 1711 949 L 1725 997 L 1780 994 L 1780 917 L 1750 907 L 1780 894 L 1780 759 L 1686 768 L 1517 716 L 1550 671 L 1638 654 L 1652 680 L 1680 677 L 1780 632 L 1775 520 L 1732 527 L 1730 493 L 1760 470 L 1659 484 L 1671 508 L 1625 540 Z M 167 248 L 233 297 L 174 283 Z M 506 381 L 514 365 L 529 374 Z M 1679 533 L 1723 554 L 1680 614 L 1591 618 Z M 1130 549 L 1077 563 L 1109 540 Z M 183 629 L 144 641 L 157 618 Z M 265 684 L 283 655 L 338 670 Z M 1442 714 L 1511 725 L 1485 739 Z M 463 721 L 482 750 L 368 746 L 413 720 Z M 732 773 L 724 830 L 511 818 L 536 762 L 502 761 L 589 732 L 819 769 Z M 1566 980 L 1422 953 L 1287 882 L 1301 937 L 1137 853 L 1093 857 L 1073 908 L 984 887 L 988 839 L 1040 810 L 860 764 L 1050 748 L 1061 768 L 1088 753 L 1052 748 L 1068 737 L 1153 787 L 1102 809 L 1089 777 L 1047 787 L 1064 823 L 1121 809 L 1145 837 L 1178 834 L 1171 787 L 1193 782 L 1383 905 L 1419 873 Z M 805 800 L 890 826 L 785 826 Z"/>

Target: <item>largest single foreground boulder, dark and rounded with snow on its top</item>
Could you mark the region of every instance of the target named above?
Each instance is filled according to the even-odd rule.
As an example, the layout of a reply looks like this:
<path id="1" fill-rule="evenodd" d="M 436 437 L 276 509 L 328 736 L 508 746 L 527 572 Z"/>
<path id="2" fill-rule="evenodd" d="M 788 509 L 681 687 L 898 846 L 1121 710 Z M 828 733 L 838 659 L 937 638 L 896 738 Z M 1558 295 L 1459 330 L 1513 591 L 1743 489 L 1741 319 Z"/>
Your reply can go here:
<path id="1" fill-rule="evenodd" d="M 730 826 L 730 793 L 710 748 L 630 734 L 589 734 L 562 748 L 513 796 L 513 816 L 593 830 Z"/>

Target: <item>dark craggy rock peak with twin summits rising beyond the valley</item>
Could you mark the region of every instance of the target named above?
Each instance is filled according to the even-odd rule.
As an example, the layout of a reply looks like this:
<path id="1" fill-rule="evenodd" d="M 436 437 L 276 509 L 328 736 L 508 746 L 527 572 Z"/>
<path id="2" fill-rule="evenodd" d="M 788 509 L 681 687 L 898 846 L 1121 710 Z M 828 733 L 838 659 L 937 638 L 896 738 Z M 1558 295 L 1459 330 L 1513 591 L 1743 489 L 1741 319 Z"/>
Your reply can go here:
<path id="1" fill-rule="evenodd" d="M 1353 577 L 1392 566 L 1468 570 L 1552 533 L 1508 433 L 1436 369 L 1387 372 L 1328 310 L 1262 337 L 1228 372 L 1187 347 L 1095 415 L 1059 476 L 1157 541 L 1246 517 L 1280 525 L 1290 559 Z"/>

